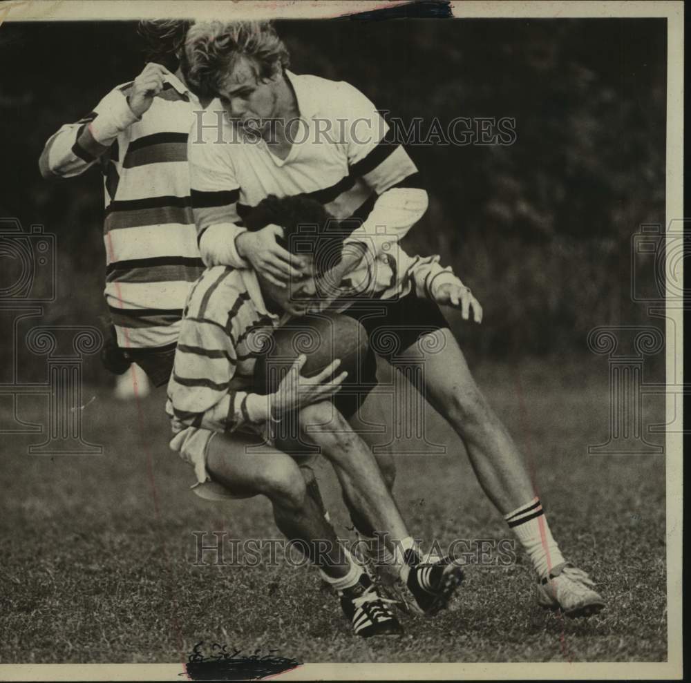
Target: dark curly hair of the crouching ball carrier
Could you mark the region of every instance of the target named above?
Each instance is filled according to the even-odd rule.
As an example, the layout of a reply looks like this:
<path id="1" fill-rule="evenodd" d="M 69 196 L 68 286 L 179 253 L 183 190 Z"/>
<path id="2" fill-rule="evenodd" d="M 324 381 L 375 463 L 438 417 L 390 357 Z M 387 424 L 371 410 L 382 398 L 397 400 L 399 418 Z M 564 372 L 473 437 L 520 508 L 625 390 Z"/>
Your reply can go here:
<path id="1" fill-rule="evenodd" d="M 284 237 L 277 240 L 279 244 L 291 253 L 314 256 L 317 272 L 327 271 L 340 262 L 343 240 L 350 232 L 321 202 L 305 194 L 281 198 L 269 195 L 247 213 L 243 222 L 249 231 L 269 224 L 283 227 Z"/>

